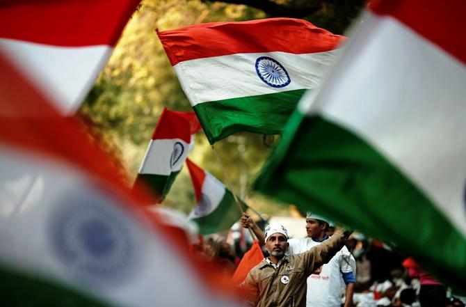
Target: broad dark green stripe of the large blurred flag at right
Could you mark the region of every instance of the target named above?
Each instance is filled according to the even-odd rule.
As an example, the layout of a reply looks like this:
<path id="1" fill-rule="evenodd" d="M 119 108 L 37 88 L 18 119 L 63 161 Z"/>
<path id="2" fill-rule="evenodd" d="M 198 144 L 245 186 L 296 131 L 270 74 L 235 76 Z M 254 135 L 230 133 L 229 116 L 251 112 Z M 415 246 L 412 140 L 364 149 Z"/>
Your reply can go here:
<path id="1" fill-rule="evenodd" d="M 450 285 L 466 285 L 465 237 L 385 157 L 342 127 L 296 111 L 255 188 L 394 242 Z"/>

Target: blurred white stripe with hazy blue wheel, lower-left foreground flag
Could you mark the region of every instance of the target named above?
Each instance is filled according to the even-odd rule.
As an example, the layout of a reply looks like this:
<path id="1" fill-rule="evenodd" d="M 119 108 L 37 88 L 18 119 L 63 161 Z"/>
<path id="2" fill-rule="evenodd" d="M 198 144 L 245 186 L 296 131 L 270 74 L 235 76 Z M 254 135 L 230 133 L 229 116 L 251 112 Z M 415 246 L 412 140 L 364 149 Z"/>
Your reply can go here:
<path id="1" fill-rule="evenodd" d="M 24 200 L 14 216 L 0 214 L 3 265 L 40 274 L 116 306 L 233 305 L 231 299 L 207 291 L 167 238 L 119 203 L 118 191 L 105 191 L 102 182 L 70 166 L 25 157 L 8 148 L 0 150 L 0 168 L 2 206 L 4 200 L 15 206 L 20 198 Z M 26 186 L 20 186 L 32 178 L 37 178 L 36 183 L 24 191 Z M 26 197 L 19 195 L 22 188 Z M 97 210 L 86 209 L 93 207 Z M 66 210 L 70 214 L 60 216 Z M 61 224 L 61 218 L 67 223 Z M 93 231 L 86 235 L 88 230 Z M 93 243 L 101 233 L 104 237 Z M 96 243 L 100 245 L 92 247 Z M 97 247 L 104 249 L 93 255 Z M 74 251 L 70 258 L 61 255 L 70 249 Z"/>

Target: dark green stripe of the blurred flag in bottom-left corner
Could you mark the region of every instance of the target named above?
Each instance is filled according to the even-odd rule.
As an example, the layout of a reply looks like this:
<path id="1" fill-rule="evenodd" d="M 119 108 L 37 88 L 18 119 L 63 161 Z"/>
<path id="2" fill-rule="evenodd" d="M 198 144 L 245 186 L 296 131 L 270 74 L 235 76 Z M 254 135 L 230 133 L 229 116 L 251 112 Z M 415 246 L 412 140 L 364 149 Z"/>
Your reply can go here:
<path id="1" fill-rule="evenodd" d="M 4 267 L 0 267 L 0 284 L 1 306 L 111 306 L 65 285 L 38 276 L 19 274 Z"/>

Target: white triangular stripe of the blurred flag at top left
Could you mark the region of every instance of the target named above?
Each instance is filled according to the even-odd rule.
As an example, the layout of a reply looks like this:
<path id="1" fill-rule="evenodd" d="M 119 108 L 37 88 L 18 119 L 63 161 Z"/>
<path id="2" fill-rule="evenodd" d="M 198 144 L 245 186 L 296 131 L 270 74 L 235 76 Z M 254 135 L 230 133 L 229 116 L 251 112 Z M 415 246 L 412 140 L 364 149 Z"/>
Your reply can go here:
<path id="1" fill-rule="evenodd" d="M 0 38 L 0 52 L 65 114 L 79 108 L 112 50 L 107 45 L 57 47 Z"/>

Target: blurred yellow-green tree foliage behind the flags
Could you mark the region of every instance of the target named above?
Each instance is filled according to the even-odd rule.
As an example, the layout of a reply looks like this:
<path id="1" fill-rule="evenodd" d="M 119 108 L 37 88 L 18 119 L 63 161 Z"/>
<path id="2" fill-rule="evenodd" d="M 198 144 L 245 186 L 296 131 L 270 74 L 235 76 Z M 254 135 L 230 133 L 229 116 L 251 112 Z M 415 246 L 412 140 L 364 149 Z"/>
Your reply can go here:
<path id="1" fill-rule="evenodd" d="M 192 111 L 155 29 L 168 30 L 190 24 L 243 21 L 266 17 L 307 19 L 333 33 L 357 17 L 364 1 L 344 0 L 144 0 L 129 20 L 120 42 L 81 108 L 99 137 L 120 158 L 132 184 L 145 148 L 163 107 Z M 277 139 L 255 134 L 235 134 L 216 143 L 233 189 L 248 204 L 266 214 L 287 215 L 288 206 L 248 190 Z M 205 136 L 200 132 L 190 155 L 195 163 L 225 182 Z M 194 192 L 186 166 L 175 180 L 165 205 L 189 212 Z"/>

